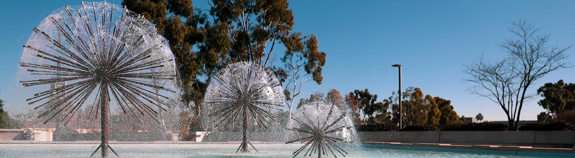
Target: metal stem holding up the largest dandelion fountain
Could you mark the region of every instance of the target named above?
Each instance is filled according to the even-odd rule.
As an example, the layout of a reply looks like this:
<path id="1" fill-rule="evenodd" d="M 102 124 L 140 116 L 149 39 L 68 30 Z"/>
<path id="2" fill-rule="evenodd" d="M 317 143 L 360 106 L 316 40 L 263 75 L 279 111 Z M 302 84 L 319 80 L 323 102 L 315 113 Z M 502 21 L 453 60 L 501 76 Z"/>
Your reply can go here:
<path id="1" fill-rule="evenodd" d="M 102 157 L 108 157 L 108 111 L 109 111 L 109 96 L 108 96 L 108 82 L 102 81 L 100 85 L 100 109 L 101 109 L 101 117 L 100 122 L 102 123 L 102 129 L 100 131 L 100 135 L 102 136 Z"/>

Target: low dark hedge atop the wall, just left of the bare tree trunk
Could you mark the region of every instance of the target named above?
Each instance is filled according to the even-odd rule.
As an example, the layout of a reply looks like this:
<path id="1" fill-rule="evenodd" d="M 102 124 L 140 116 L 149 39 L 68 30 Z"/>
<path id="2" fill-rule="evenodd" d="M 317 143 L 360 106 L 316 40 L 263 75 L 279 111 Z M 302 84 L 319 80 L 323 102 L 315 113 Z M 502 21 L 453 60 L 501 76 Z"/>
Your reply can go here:
<path id="1" fill-rule="evenodd" d="M 509 128 L 501 123 L 467 123 L 447 125 L 442 131 L 507 131 Z"/>

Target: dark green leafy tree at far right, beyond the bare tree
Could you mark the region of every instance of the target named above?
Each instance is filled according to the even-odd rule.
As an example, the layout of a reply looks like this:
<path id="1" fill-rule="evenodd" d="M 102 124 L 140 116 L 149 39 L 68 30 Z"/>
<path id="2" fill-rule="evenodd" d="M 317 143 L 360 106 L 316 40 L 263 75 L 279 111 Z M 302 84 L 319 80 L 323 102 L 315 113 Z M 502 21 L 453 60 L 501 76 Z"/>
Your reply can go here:
<path id="1" fill-rule="evenodd" d="M 546 83 L 537 89 L 537 94 L 543 97 L 537 103 L 551 113 L 575 109 L 575 84 L 565 84 L 563 80 Z"/>

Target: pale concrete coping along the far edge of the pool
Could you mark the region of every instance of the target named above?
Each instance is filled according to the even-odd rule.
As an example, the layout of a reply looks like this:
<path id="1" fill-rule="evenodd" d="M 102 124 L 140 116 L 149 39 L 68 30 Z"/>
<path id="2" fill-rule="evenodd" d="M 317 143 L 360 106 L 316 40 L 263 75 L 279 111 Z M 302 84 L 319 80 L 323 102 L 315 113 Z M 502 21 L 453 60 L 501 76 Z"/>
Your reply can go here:
<path id="1" fill-rule="evenodd" d="M 0 141 L 0 147 L 39 147 L 39 146 L 91 146 L 99 144 L 100 141 L 26 141 L 10 140 Z M 193 144 L 240 144 L 241 141 L 219 141 L 219 142 L 195 142 L 195 141 L 109 141 L 110 144 L 121 146 L 145 146 L 145 147 L 185 147 Z M 252 144 L 285 144 L 284 142 L 251 141 Z M 380 141 L 365 141 L 363 144 L 392 145 L 392 146 L 413 146 L 413 147 L 436 147 L 436 148 L 458 148 L 458 149 L 487 149 L 495 151 L 526 151 L 526 152 L 559 152 L 575 153 L 575 149 L 569 148 L 535 148 L 530 146 L 509 146 L 509 145 L 469 145 L 469 144 L 436 144 L 436 143 L 394 143 Z M 297 143 L 294 143 L 297 144 Z"/>

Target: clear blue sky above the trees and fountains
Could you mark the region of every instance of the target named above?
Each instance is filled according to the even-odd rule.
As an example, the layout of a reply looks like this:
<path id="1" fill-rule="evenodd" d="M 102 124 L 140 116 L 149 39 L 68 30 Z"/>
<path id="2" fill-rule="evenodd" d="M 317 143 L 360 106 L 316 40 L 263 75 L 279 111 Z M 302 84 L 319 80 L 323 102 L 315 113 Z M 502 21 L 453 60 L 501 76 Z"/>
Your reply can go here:
<path id="1" fill-rule="evenodd" d="M 45 15 L 65 5 L 80 1 L 0 2 L 0 98 L 9 112 L 29 108 L 14 105 L 24 100 L 13 90 L 21 86 L 16 72 L 22 45 Z M 194 1 L 194 6 L 206 8 L 207 3 Z M 527 18 L 545 26 L 543 32 L 553 33 L 551 44 L 575 44 L 575 1 L 292 1 L 290 7 L 294 30 L 315 34 L 320 50 L 327 53 L 323 84 L 305 85 L 305 96 L 315 90 L 348 93 L 369 88 L 386 98 L 397 90 L 397 68 L 391 65 L 401 64 L 404 88 L 416 86 L 424 94 L 451 100 L 460 116 L 482 113 L 491 121 L 505 120 L 503 110 L 486 98 L 463 92 L 470 84 L 462 82 L 467 77 L 462 70 L 481 53 L 488 58 L 504 56 L 496 43 L 513 37 L 505 20 Z M 274 52 L 281 54 L 283 49 Z M 575 56 L 575 49 L 568 53 Z M 570 62 L 575 63 L 575 57 Z M 559 79 L 575 82 L 575 68 L 553 72 L 534 88 Z M 521 120 L 535 120 L 543 111 L 536 100 L 524 106 Z"/>

